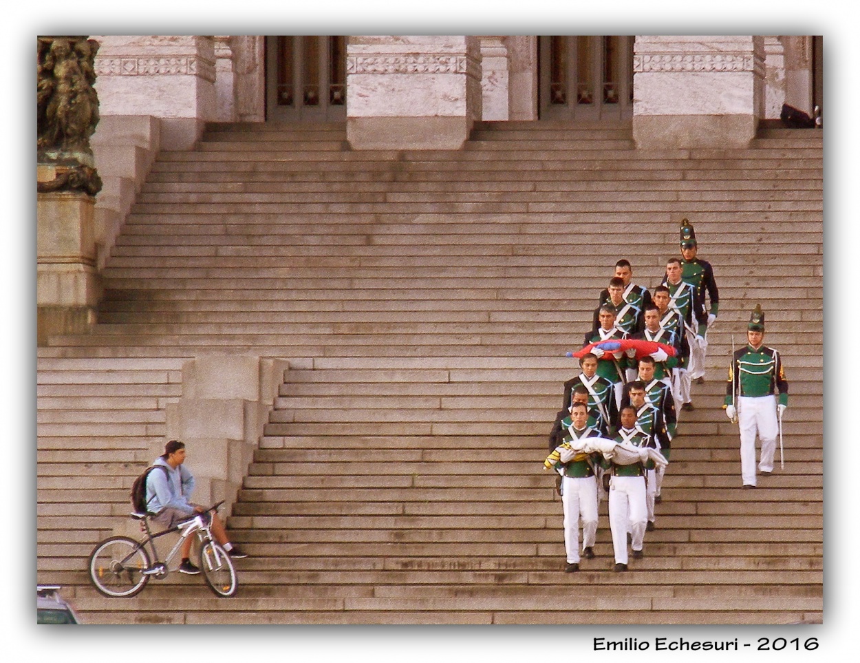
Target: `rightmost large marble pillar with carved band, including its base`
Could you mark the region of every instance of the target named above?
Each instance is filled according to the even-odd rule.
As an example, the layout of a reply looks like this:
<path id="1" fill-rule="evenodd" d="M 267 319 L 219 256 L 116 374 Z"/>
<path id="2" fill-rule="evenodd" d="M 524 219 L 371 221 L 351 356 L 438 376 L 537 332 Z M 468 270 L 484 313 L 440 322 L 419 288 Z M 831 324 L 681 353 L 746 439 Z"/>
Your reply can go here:
<path id="1" fill-rule="evenodd" d="M 765 115 L 757 36 L 637 36 L 633 137 L 645 149 L 744 147 Z"/>

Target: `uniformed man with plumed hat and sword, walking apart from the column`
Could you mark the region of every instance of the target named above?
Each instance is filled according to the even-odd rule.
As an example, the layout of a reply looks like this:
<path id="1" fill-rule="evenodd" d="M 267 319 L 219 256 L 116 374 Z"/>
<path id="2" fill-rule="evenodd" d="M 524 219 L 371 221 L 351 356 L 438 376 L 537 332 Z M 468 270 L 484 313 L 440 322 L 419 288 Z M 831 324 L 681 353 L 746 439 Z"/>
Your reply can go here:
<path id="1" fill-rule="evenodd" d="M 777 412 L 782 417 L 789 404 L 789 383 L 777 350 L 763 345 L 765 313 L 758 305 L 750 316 L 746 338 L 748 343 L 735 351 L 728 369 L 724 407 L 728 418 L 740 422 L 740 476 L 745 488 L 753 488 L 756 434 L 761 443 L 759 470 L 771 474 L 779 433 Z"/>

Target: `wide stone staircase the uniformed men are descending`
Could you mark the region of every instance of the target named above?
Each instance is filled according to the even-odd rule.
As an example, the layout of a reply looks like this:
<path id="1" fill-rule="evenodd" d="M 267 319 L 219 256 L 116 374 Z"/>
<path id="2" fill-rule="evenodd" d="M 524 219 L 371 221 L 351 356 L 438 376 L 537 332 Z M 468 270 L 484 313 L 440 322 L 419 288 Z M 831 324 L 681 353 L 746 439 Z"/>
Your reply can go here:
<path id="1" fill-rule="evenodd" d="M 162 152 L 103 272 L 92 333 L 39 350 L 38 579 L 90 622 L 791 623 L 821 620 L 822 147 L 643 152 L 630 128 L 476 126 L 458 152 L 351 152 L 342 125 L 211 125 Z M 630 573 L 562 573 L 544 473 L 562 382 L 619 257 L 660 281 L 679 220 L 721 313 L 657 530 Z M 756 303 L 791 383 L 785 468 L 740 491 L 722 412 Z M 229 520 L 251 557 L 89 587 L 184 358 L 290 360 Z M 193 467 L 192 467 L 193 468 Z M 754 493 L 754 494 L 751 494 Z"/>

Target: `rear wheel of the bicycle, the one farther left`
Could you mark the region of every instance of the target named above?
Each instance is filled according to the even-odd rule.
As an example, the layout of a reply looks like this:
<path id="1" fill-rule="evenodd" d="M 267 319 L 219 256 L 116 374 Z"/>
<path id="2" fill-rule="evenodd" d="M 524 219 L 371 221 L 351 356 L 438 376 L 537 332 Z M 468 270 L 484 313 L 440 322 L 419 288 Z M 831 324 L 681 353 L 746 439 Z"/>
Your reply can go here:
<path id="1" fill-rule="evenodd" d="M 107 597 L 131 597 L 140 592 L 150 577 L 150 556 L 134 539 L 111 536 L 89 555 L 89 579 Z"/>

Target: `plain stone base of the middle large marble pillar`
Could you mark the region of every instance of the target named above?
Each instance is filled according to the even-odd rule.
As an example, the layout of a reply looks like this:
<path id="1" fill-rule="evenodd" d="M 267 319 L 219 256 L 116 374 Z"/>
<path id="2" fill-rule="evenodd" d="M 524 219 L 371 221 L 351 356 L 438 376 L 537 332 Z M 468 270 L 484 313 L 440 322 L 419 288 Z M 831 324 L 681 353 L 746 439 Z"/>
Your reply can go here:
<path id="1" fill-rule="evenodd" d="M 459 150 L 472 129 L 465 117 L 351 117 L 353 150 Z"/>

